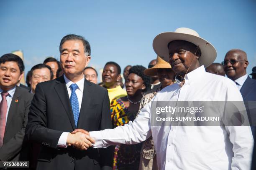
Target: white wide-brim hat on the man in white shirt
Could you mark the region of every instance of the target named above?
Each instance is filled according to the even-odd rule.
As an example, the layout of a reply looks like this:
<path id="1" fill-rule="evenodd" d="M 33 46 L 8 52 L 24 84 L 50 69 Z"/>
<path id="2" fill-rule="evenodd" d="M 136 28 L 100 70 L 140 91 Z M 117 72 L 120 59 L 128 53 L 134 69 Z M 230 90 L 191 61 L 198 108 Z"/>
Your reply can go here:
<path id="1" fill-rule="evenodd" d="M 195 30 L 189 28 L 177 28 L 175 32 L 162 32 L 159 35 L 156 35 L 153 40 L 154 51 L 167 62 L 169 62 L 168 44 L 174 40 L 184 40 L 197 45 L 202 53 L 199 58 L 200 66 L 209 66 L 217 57 L 217 52 L 213 45 L 207 40 L 202 39 Z"/>

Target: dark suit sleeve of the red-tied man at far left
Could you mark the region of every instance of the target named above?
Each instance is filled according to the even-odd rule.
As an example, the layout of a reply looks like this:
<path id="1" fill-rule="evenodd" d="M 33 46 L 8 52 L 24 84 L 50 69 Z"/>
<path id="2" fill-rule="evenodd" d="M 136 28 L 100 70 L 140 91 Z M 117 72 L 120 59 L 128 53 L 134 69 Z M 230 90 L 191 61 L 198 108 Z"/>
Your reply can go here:
<path id="1" fill-rule="evenodd" d="M 22 128 L 18 133 L 16 133 L 13 138 L 11 138 L 7 143 L 3 145 L 2 148 L 0 148 L 0 160 L 2 161 L 8 161 L 11 160 L 15 155 L 17 155 L 23 145 L 23 140 L 25 137 L 25 129 L 26 125 L 28 123 L 28 112 L 29 112 L 29 107 L 31 104 L 32 100 L 32 95 L 27 95 L 24 96 L 27 97 L 28 99 L 25 102 L 24 110 L 19 110 L 20 112 L 24 111 L 24 117 L 23 117 L 23 125 Z"/>

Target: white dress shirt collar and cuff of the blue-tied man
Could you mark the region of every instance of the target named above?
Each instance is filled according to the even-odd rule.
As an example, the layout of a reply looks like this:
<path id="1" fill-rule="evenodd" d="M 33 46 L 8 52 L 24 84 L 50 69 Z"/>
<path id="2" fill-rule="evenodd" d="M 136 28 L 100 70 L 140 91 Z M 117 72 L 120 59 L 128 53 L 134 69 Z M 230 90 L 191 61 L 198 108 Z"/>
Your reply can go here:
<path id="1" fill-rule="evenodd" d="M 66 82 L 67 91 L 68 91 L 69 99 L 70 99 L 70 96 L 71 96 L 71 93 L 72 93 L 70 85 L 72 85 L 74 82 L 69 80 L 65 75 L 64 75 L 64 80 Z M 84 92 L 84 77 L 81 80 L 79 80 L 78 82 L 76 82 L 75 84 L 77 84 L 77 86 L 78 86 L 78 88 L 76 89 L 76 94 L 77 94 L 77 98 L 78 98 L 79 112 L 80 112 L 81 105 L 82 105 L 82 99 L 83 99 L 83 92 Z M 69 134 L 69 132 L 63 132 L 61 134 L 61 136 L 59 138 L 59 141 L 58 141 L 58 147 L 67 148 L 67 136 L 68 136 L 68 134 Z"/>

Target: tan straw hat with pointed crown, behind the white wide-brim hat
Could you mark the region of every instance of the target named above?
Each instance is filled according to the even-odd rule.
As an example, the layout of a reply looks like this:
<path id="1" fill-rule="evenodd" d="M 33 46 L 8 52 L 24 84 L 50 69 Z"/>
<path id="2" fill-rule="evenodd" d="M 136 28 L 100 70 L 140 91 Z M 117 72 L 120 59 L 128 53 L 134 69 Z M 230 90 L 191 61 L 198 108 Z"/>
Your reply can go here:
<path id="1" fill-rule="evenodd" d="M 149 76 L 157 75 L 157 69 L 158 68 L 169 68 L 169 69 L 171 69 L 172 67 L 169 64 L 169 62 L 166 62 L 163 59 L 161 59 L 161 57 L 157 56 L 156 65 L 154 65 L 154 67 L 151 67 L 151 68 L 148 68 L 148 69 L 144 70 L 144 74 L 149 75 Z"/>

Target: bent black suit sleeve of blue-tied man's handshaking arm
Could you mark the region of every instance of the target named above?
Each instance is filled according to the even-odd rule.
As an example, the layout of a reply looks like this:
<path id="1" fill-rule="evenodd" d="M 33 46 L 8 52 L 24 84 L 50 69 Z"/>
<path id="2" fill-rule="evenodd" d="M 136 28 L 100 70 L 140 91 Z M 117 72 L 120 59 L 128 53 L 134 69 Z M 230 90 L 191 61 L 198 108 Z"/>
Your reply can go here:
<path id="1" fill-rule="evenodd" d="M 46 97 L 40 83 L 36 85 L 36 92 L 28 113 L 26 135 L 29 140 L 35 140 L 50 148 L 57 148 L 61 131 L 47 128 Z"/>

